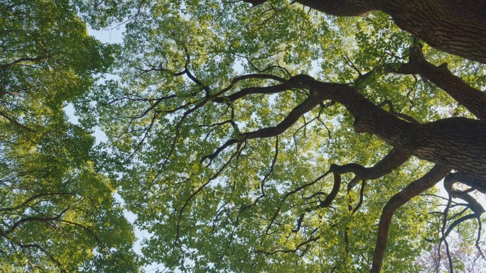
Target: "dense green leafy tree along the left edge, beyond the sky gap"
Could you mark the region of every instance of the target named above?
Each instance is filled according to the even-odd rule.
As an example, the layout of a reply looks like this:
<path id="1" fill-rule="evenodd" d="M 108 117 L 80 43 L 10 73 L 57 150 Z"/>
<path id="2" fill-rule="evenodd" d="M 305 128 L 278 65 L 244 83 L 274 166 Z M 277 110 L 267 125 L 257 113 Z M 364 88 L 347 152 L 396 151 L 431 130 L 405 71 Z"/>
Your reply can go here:
<path id="1" fill-rule="evenodd" d="M 68 1 L 1 2 L 1 272 L 138 272 L 94 138 L 63 110 L 114 50 L 87 35 Z"/>

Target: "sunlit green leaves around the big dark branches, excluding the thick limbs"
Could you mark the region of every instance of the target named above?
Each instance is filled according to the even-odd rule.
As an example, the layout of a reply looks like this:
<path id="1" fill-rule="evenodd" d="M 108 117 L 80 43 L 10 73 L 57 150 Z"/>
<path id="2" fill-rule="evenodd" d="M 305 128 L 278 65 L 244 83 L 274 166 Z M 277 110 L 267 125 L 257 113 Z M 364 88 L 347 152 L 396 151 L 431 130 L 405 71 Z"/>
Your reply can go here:
<path id="1" fill-rule="evenodd" d="M 335 18 L 286 1 L 257 8 L 242 2 L 155 1 L 141 9 L 126 24 L 119 83 L 92 94 L 97 104 L 91 111 L 96 108 L 99 116 L 84 116 L 84 122 L 101 123 L 113 149 L 111 162 L 124 163 L 111 170 L 121 173 L 119 193 L 138 216 L 136 225 L 151 234 L 142 249 L 146 263 L 187 272 L 369 271 L 384 204 L 430 165 L 411 160 L 369 182 L 365 202 L 353 215 L 348 205 L 357 204 L 360 191 L 356 186 L 345 194 L 352 179 L 346 176 L 332 207 L 314 210 L 321 198 L 315 193 L 328 194 L 333 177 L 296 189 L 332 163 L 374 165 L 390 147 L 372 135 L 355 134 L 352 117 L 341 106 L 315 108 L 279 138 L 244 138 L 283 121 L 306 99 L 306 91 L 222 103 L 206 99 L 244 74 L 310 73 L 357 84 L 375 104 L 392 100 L 396 111 L 421 122 L 447 116 L 443 109 L 454 108 L 453 100 L 436 87 L 384 72 L 387 64 L 399 68 L 412 40 L 384 13 Z M 427 54 L 444 58 L 434 50 Z M 466 73 L 468 65 L 456 62 L 454 68 Z M 367 72 L 369 77 L 356 82 Z M 247 79 L 232 91 L 272 84 Z M 201 160 L 232 139 L 237 144 Z M 417 198 L 396 213 L 384 272 L 418 272 L 413 257 L 426 247 L 423 238 L 432 236 L 426 231 L 427 211 L 437 204 Z"/>

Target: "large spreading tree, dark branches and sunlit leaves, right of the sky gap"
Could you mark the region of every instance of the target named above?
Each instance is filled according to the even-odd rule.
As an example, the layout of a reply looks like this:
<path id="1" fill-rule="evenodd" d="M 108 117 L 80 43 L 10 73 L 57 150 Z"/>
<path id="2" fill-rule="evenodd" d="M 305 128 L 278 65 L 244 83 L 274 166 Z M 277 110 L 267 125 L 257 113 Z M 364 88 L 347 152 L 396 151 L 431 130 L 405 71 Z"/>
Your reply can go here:
<path id="1" fill-rule="evenodd" d="M 77 103 L 109 136 L 107 170 L 151 233 L 146 261 L 418 272 L 416 253 L 471 219 L 463 232 L 479 230 L 480 249 L 470 192 L 486 190 L 484 9 L 249 2 L 144 3 L 126 24 L 120 80 L 92 92 L 95 107 Z"/>

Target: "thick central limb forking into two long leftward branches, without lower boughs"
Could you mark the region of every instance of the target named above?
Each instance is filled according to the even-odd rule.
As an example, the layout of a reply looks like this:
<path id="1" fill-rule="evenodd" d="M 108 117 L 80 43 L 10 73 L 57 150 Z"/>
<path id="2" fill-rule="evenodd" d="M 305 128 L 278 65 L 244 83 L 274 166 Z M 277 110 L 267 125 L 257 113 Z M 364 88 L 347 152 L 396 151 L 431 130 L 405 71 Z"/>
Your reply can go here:
<path id="1" fill-rule="evenodd" d="M 310 95 L 293 108 L 277 126 L 261 128 L 242 134 L 242 139 L 270 138 L 290 128 L 304 113 L 311 111 L 322 101 L 336 101 L 355 117 L 357 133 L 372 133 L 396 149 L 439 165 L 463 172 L 469 177 L 486 180 L 486 122 L 469 118 L 445 118 L 430 123 L 411 123 L 384 111 L 347 84 L 319 82 L 301 74 L 283 84 L 249 89 L 215 102 L 240 99 L 247 94 L 270 94 L 292 88 L 308 89 Z M 229 140 L 206 158 L 213 158 L 229 145 L 239 143 Z"/>

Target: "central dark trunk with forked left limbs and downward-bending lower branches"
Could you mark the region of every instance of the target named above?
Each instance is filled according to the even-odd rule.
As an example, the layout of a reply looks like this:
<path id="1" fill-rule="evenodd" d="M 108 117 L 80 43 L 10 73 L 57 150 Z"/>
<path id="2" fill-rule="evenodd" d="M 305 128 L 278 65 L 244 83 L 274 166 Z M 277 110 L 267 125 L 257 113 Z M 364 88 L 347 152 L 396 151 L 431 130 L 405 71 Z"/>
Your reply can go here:
<path id="1" fill-rule="evenodd" d="M 432 69 L 436 68 L 432 67 Z M 421 179 L 406 186 L 399 194 L 393 196 L 384 207 L 379 223 L 372 272 L 379 272 L 382 267 L 389 223 L 396 208 L 446 177 L 451 169 L 455 169 L 463 177 L 467 177 L 468 185 L 481 191 L 485 190 L 486 143 L 484 139 L 486 139 L 486 122 L 482 120 L 445 118 L 430 123 L 405 121 L 372 104 L 355 87 L 347 84 L 319 82 L 305 74 L 291 77 L 288 81 L 270 87 L 242 89 L 229 96 L 214 98 L 213 101 L 222 103 L 223 101 L 242 99 L 251 94 L 271 94 L 291 89 L 307 89 L 309 95 L 306 100 L 293 108 L 284 120 L 274 127 L 242 133 L 241 138 L 227 141 L 215 153 L 203 157 L 203 160 L 212 159 L 229 145 L 241 143 L 246 139 L 270 138 L 279 135 L 296 123 L 304 113 L 311 111 L 323 101 L 335 101 L 345 106 L 347 111 L 355 118 L 354 126 L 357 133 L 377 135 L 384 142 L 392 145 L 394 149 L 375 167 L 365 168 L 355 164 L 332 165 L 329 172 L 333 172 L 335 177 L 333 191 L 330 192 L 325 201 L 321 202 L 318 208 L 330 206 L 330 203 L 338 194 L 341 173 L 355 172 L 359 179 L 378 178 L 401 165 L 410 155 L 436 163 L 436 167 Z M 313 183 L 315 182 L 311 184 Z M 352 186 L 352 182 L 348 184 L 348 188 L 350 186 Z"/>

